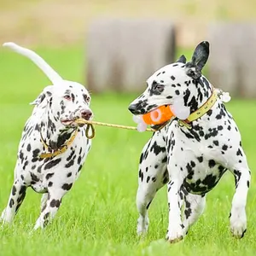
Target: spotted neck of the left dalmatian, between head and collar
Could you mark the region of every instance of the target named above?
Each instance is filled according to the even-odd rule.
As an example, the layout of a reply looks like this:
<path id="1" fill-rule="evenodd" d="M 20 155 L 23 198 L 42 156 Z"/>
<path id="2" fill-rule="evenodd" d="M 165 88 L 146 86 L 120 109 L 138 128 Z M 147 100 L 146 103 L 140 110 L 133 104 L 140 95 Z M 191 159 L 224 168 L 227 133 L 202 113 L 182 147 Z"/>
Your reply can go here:
<path id="1" fill-rule="evenodd" d="M 66 128 L 63 126 L 60 119 L 57 119 L 49 108 L 45 109 L 39 129 L 44 143 L 46 143 L 50 149 L 61 148 L 75 130 L 75 128 Z"/>

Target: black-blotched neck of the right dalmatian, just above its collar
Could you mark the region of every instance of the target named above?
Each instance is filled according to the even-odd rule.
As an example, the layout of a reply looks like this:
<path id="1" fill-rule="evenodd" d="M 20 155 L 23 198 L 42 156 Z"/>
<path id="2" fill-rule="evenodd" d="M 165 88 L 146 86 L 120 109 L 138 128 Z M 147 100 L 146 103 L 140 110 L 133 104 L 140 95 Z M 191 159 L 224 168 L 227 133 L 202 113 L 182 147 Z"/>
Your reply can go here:
<path id="1" fill-rule="evenodd" d="M 189 107 L 190 113 L 194 113 L 212 96 L 212 90 L 212 84 L 205 77 L 201 76 L 200 79 L 192 80 L 192 84 L 189 84 L 184 92 L 184 106 Z"/>

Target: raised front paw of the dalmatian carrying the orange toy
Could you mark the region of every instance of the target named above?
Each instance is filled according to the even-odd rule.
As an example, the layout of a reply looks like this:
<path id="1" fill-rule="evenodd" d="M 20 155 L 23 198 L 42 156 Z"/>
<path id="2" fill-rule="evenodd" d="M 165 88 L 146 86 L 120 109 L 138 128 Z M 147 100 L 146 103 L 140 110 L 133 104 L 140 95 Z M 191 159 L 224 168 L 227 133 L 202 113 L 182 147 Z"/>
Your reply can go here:
<path id="1" fill-rule="evenodd" d="M 247 216 L 245 211 L 240 212 L 240 214 L 231 214 L 230 230 L 236 238 L 242 238 L 244 236 L 247 230 Z"/>

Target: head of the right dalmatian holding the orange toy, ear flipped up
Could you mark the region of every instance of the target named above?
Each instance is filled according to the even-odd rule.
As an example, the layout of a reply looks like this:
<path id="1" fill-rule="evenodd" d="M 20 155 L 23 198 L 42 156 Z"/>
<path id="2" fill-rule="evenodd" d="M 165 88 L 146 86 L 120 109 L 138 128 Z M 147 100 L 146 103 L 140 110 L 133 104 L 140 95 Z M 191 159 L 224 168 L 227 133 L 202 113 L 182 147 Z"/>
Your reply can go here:
<path id="1" fill-rule="evenodd" d="M 186 58 L 182 55 L 175 63 L 160 68 L 147 80 L 148 87 L 143 94 L 131 102 L 131 113 L 144 114 L 162 105 L 172 105 L 177 118 L 183 119 L 184 114 L 195 111 L 198 94 L 207 94 L 207 88 L 200 88 L 198 84 L 207 84 L 201 70 L 208 55 L 209 43 L 204 41 L 195 48 L 191 61 L 186 63 Z M 193 97 L 194 101 L 191 101 Z"/>

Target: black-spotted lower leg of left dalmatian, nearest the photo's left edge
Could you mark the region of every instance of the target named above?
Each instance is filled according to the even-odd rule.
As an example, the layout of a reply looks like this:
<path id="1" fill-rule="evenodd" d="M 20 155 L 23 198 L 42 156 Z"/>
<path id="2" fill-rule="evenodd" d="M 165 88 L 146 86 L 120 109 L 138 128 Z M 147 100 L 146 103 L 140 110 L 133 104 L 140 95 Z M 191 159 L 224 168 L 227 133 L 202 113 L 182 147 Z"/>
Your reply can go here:
<path id="1" fill-rule="evenodd" d="M 11 223 L 13 221 L 25 196 L 26 186 L 23 183 L 20 183 L 19 180 L 15 180 L 9 195 L 8 205 L 3 210 L 0 218 L 3 223 Z"/>

